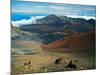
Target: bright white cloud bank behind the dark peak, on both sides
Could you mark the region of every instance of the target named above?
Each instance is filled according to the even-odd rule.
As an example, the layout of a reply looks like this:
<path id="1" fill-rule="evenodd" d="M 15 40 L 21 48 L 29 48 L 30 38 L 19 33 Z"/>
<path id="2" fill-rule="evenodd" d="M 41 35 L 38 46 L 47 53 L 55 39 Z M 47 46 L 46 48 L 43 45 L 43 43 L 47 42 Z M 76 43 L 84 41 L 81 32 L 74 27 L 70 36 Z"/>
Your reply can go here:
<path id="1" fill-rule="evenodd" d="M 72 17 L 72 18 L 84 18 L 86 20 L 89 19 L 95 19 L 95 17 L 90 17 L 90 16 L 77 16 L 77 15 L 67 15 L 68 17 Z M 28 24 L 36 24 L 36 19 L 41 19 L 45 16 L 32 16 L 30 19 L 22 19 L 22 20 L 18 20 L 18 21 L 12 21 L 13 26 L 21 26 L 21 25 L 28 25 Z"/>

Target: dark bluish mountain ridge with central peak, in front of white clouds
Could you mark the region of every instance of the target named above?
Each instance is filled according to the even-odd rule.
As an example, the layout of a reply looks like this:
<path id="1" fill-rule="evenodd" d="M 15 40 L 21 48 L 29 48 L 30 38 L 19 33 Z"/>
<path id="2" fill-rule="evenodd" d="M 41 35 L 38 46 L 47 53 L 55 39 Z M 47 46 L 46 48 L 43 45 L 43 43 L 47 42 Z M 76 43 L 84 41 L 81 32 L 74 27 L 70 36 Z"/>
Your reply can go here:
<path id="1" fill-rule="evenodd" d="M 36 24 L 21 25 L 19 28 L 29 32 L 54 32 L 69 30 L 74 32 L 86 32 L 95 27 L 96 20 L 84 18 L 71 18 L 67 16 L 56 16 L 50 14 L 44 18 L 36 19 Z"/>

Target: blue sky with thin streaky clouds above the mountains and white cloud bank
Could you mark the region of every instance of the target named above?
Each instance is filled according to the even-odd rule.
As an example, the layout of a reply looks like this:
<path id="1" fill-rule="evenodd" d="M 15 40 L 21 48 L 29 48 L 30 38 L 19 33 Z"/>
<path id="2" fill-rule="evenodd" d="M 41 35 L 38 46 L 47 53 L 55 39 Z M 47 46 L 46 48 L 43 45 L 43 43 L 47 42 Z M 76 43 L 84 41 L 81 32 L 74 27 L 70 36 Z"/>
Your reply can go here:
<path id="1" fill-rule="evenodd" d="M 12 0 L 12 12 L 30 14 L 56 14 L 56 15 L 78 15 L 96 16 L 96 7 L 92 5 L 59 4 L 45 2 L 26 2 Z"/>

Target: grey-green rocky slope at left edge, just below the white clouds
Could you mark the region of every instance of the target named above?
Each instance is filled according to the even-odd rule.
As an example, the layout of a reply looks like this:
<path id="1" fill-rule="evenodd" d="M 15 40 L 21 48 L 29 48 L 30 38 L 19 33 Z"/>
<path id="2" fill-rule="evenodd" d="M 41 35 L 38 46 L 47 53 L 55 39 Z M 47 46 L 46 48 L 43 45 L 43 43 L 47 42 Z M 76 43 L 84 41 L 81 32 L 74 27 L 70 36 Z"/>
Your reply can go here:
<path id="1" fill-rule="evenodd" d="M 22 31 L 18 27 L 11 28 L 11 39 L 12 40 L 32 40 L 33 33 L 28 31 Z"/>

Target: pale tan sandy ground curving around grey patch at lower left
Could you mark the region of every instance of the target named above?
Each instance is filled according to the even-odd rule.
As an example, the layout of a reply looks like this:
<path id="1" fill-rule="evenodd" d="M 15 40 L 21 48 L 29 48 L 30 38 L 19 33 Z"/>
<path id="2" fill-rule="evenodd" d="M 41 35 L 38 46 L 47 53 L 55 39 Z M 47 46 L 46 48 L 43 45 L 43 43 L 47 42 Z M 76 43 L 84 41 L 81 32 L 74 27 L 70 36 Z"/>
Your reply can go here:
<path id="1" fill-rule="evenodd" d="M 47 53 L 45 53 L 41 49 L 41 43 L 35 42 L 35 41 L 17 41 L 16 44 L 25 47 L 25 48 L 31 48 L 33 50 L 36 50 L 38 53 L 35 55 L 13 55 L 13 64 L 23 64 L 24 62 L 31 61 L 32 64 L 49 64 L 53 62 L 53 60 L 56 58 L 55 56 L 51 56 Z"/>

